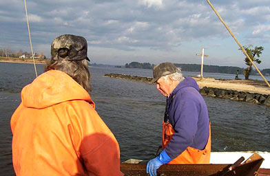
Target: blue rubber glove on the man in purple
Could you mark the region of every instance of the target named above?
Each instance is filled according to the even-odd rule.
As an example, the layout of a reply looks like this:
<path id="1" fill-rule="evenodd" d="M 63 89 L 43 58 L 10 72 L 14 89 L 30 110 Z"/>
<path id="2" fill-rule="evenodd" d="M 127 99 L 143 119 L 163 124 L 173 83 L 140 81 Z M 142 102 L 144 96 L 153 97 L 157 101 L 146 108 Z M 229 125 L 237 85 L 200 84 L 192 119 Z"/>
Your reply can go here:
<path id="1" fill-rule="evenodd" d="M 158 157 L 151 159 L 146 166 L 146 173 L 150 176 L 156 176 L 156 170 L 163 164 L 167 164 L 172 159 L 167 155 L 166 151 L 163 150 Z"/>

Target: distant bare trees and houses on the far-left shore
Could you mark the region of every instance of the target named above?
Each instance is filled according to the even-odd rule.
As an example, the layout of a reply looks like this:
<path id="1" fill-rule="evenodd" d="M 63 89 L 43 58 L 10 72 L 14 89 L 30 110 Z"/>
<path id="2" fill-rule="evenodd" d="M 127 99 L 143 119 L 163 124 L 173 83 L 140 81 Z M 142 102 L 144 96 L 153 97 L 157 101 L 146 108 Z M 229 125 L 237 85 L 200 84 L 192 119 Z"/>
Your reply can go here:
<path id="1" fill-rule="evenodd" d="M 14 52 L 8 47 L 4 47 L 0 49 L 0 56 L 2 57 L 11 57 L 11 58 L 19 58 L 20 56 L 23 56 L 23 58 L 30 58 L 32 57 L 32 54 L 28 52 L 23 52 L 23 50 L 19 50 L 17 52 Z M 44 55 L 44 52 L 40 52 L 39 54 L 34 53 L 34 58 L 41 58 L 44 59 L 46 56 Z"/>

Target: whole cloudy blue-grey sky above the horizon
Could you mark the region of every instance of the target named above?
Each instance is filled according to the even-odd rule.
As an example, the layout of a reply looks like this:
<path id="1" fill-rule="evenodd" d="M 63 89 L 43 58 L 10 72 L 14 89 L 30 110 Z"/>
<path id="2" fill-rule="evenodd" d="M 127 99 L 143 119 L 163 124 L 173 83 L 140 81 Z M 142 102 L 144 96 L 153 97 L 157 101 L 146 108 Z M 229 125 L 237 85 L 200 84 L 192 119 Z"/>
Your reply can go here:
<path id="1" fill-rule="evenodd" d="M 84 36 L 92 63 L 197 63 L 246 67 L 206 0 L 27 0 L 32 45 L 50 57 L 61 34 Z M 270 68 L 270 0 L 211 0 L 241 45 L 263 46 Z M 0 49 L 30 52 L 23 0 L 0 0 Z"/>

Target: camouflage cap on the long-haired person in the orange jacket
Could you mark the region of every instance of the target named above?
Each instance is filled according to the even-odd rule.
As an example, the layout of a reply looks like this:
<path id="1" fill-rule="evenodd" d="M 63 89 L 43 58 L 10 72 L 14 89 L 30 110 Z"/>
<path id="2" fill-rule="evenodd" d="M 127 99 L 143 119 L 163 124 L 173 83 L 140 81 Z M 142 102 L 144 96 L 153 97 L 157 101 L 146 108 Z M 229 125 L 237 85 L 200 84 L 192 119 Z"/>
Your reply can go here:
<path id="1" fill-rule="evenodd" d="M 64 34 L 56 37 L 51 45 L 52 60 L 81 61 L 87 58 L 87 41 L 82 36 Z"/>

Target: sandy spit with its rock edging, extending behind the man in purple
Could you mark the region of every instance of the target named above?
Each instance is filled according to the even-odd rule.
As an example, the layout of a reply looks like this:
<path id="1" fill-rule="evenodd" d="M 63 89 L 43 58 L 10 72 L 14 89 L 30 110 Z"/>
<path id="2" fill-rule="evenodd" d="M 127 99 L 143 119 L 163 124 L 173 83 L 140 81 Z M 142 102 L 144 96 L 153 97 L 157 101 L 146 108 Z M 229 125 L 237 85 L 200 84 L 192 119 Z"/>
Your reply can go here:
<path id="1" fill-rule="evenodd" d="M 149 83 L 152 78 L 125 74 L 105 74 L 110 78 L 122 78 Z M 192 77 L 200 87 L 200 94 L 216 98 L 229 98 L 270 106 L 270 88 L 262 80 L 218 80 Z"/>

